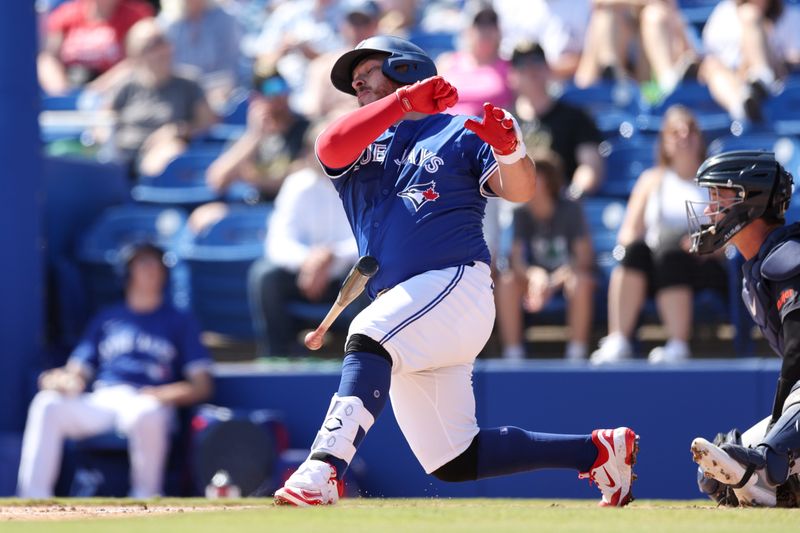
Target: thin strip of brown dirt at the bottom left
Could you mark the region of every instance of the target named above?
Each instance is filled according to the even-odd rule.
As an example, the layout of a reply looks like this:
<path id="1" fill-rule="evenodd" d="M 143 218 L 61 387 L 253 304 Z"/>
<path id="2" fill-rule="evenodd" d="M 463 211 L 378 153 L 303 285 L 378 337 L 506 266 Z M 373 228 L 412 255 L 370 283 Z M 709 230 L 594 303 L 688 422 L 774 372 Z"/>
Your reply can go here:
<path id="1" fill-rule="evenodd" d="M 0 505 L 0 522 L 79 520 L 255 509 L 260 505 Z"/>

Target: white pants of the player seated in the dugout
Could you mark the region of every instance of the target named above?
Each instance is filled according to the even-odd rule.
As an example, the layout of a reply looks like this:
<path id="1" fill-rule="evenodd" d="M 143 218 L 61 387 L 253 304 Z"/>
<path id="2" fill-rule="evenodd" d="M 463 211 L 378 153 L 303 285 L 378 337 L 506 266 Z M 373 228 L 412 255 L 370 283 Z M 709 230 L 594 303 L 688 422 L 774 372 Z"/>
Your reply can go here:
<path id="1" fill-rule="evenodd" d="M 18 495 L 50 498 L 61 468 L 65 439 L 115 430 L 128 438 L 130 496 L 162 493 L 174 408 L 134 387 L 115 385 L 79 396 L 41 391 L 31 402 L 22 439 Z"/>

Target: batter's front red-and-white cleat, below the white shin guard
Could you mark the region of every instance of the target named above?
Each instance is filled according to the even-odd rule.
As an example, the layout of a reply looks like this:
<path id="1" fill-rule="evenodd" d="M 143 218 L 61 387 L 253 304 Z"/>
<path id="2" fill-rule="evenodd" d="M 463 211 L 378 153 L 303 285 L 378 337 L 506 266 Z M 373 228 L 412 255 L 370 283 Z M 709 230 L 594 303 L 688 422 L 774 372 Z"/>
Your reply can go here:
<path id="1" fill-rule="evenodd" d="M 273 498 L 276 505 L 333 505 L 339 501 L 343 490 L 344 485 L 336 479 L 333 465 L 308 459 L 275 491 Z"/>

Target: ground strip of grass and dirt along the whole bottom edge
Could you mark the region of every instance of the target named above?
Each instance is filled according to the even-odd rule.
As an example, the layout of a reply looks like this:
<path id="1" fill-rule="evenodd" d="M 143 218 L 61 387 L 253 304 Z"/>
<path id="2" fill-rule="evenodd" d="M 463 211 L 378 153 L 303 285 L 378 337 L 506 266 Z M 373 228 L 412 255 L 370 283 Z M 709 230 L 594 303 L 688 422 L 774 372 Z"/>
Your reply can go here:
<path id="1" fill-rule="evenodd" d="M 350 499 L 335 507 L 314 509 L 274 507 L 268 500 L 159 500 L 146 502 L 147 509 L 130 500 L 48 503 L 0 500 L 0 510 L 6 511 L 0 515 L 0 531 L 753 533 L 794 531 L 800 519 L 800 509 L 724 509 L 707 500 L 637 500 L 625 509 L 598 508 L 588 500 L 524 499 Z M 131 509 L 130 514 L 109 515 L 109 509 L 119 511 L 121 506 Z M 164 507 L 171 507 L 172 512 L 159 514 Z M 13 517 L 9 510 L 14 511 Z M 62 512 L 76 511 L 87 515 L 57 518 Z"/>

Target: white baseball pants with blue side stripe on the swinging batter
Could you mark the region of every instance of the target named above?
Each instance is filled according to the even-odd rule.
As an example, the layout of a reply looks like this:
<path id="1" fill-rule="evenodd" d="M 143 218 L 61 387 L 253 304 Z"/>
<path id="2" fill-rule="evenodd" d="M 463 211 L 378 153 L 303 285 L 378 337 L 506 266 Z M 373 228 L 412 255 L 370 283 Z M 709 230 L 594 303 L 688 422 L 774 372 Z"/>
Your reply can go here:
<path id="1" fill-rule="evenodd" d="M 350 324 L 350 335 L 367 335 L 391 355 L 392 408 L 427 473 L 463 453 L 479 431 L 472 370 L 494 317 L 490 269 L 477 262 L 414 276 Z"/>

